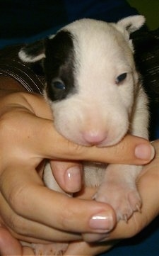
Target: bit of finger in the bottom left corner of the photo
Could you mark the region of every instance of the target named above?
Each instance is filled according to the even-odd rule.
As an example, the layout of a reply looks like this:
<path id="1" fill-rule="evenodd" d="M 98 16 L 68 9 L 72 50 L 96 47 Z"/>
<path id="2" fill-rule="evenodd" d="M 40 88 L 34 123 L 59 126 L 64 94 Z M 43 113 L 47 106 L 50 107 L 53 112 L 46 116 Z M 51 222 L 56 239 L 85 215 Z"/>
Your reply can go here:
<path id="1" fill-rule="evenodd" d="M 0 254 L 1 256 L 35 255 L 30 247 L 20 245 L 20 242 L 2 227 L 0 228 Z"/>

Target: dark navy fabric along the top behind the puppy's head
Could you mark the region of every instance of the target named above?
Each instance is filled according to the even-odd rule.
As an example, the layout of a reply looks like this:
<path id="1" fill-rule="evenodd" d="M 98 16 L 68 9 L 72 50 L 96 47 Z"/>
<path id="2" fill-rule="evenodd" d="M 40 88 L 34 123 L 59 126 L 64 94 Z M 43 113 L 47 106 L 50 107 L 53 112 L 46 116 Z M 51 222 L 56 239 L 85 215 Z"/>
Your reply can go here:
<path id="1" fill-rule="evenodd" d="M 118 21 L 136 13 L 124 0 L 1 1 L 0 48 L 45 38 L 77 18 Z"/>

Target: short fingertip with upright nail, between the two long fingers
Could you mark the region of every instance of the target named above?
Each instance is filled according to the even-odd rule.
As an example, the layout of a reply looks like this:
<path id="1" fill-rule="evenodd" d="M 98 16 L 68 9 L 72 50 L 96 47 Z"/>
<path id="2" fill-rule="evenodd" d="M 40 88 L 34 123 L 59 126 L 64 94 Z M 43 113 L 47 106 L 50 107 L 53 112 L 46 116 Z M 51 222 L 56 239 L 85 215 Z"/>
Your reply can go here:
<path id="1" fill-rule="evenodd" d="M 64 161 L 50 161 L 52 173 L 57 183 L 64 191 L 68 193 L 75 193 L 81 189 L 82 179 L 82 165 L 78 162 L 64 162 Z"/>

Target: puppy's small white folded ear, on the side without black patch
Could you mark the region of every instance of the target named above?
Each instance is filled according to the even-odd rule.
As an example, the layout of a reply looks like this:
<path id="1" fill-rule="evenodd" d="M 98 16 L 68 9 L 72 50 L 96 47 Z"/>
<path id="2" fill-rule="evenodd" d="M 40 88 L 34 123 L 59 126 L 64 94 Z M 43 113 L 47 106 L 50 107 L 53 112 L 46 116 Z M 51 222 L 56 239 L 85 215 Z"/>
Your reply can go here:
<path id="1" fill-rule="evenodd" d="M 144 16 L 135 15 L 123 18 L 122 20 L 118 21 L 117 25 L 122 26 L 130 34 L 141 28 L 141 26 L 143 26 L 144 23 Z"/>

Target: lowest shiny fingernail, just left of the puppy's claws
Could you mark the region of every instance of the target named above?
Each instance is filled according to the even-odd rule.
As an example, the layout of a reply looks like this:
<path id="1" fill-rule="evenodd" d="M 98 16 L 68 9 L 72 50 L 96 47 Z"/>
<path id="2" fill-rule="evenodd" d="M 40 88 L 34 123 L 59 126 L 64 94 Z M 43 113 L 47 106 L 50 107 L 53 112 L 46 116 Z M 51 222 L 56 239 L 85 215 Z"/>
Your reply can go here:
<path id="1" fill-rule="evenodd" d="M 90 219 L 90 228 L 100 230 L 102 233 L 107 233 L 114 227 L 114 221 L 112 215 L 103 212 L 93 216 Z"/>

